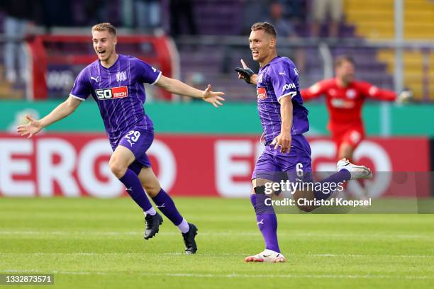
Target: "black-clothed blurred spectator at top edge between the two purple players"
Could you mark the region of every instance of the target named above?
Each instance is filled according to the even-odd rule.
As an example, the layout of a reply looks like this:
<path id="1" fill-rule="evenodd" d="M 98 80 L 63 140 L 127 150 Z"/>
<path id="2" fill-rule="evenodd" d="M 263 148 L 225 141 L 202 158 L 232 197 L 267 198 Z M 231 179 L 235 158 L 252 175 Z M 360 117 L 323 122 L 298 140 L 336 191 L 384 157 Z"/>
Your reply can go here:
<path id="1" fill-rule="evenodd" d="M 191 0 L 170 0 L 170 33 L 177 37 L 179 34 L 196 35 L 196 21 Z M 186 28 L 184 31 L 182 28 Z"/>

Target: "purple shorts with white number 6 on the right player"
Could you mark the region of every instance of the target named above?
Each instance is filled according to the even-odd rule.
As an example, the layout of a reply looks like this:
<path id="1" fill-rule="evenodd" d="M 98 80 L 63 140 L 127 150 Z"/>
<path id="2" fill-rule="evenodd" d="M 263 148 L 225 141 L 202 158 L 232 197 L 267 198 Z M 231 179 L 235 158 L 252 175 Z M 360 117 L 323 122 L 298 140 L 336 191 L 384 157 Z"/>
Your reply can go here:
<path id="1" fill-rule="evenodd" d="M 304 135 L 292 135 L 291 137 L 289 153 L 282 153 L 274 149 L 274 145 L 265 147 L 264 152 L 257 159 L 252 179 L 262 178 L 277 181 L 277 177 L 282 173 L 287 176 L 294 175 L 294 178 L 300 171 L 303 171 L 304 174 L 311 173 L 311 146 Z"/>

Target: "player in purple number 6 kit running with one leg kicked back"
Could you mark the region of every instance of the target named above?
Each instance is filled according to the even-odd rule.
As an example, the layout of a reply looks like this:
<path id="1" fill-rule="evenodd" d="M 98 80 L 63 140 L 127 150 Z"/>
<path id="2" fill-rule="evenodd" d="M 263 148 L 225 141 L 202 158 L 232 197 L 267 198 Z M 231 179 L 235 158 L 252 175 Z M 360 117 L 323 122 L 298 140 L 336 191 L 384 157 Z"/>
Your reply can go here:
<path id="1" fill-rule="evenodd" d="M 304 133 L 309 129 L 308 110 L 303 106 L 299 91 L 299 72 L 294 62 L 286 57 L 277 56 L 277 33 L 271 24 L 255 23 L 249 37 L 252 58 L 260 64 L 260 71 L 254 74 L 241 60 L 243 67 L 235 69 L 239 79 L 255 84 L 257 90 L 257 109 L 264 130 L 265 149 L 257 159 L 252 174 L 253 190 L 250 195 L 256 212 L 258 228 L 265 241 L 265 250 L 247 256 L 246 262 L 285 262 L 277 242 L 277 217 L 274 208 L 267 205 L 270 194 L 267 183 L 276 181 L 277 172 L 284 172 L 289 181 L 294 176 L 304 174 L 304 181 L 311 179 L 311 147 Z M 337 164 L 338 172 L 319 183 L 339 183 L 350 179 L 369 179 L 372 174 L 365 166 L 356 166 L 346 159 Z M 330 191 L 321 191 L 322 186 L 312 186 L 305 191 L 295 191 L 294 200 L 301 210 L 311 211 L 318 205 L 299 205 L 299 199 L 325 200 Z M 278 192 L 275 192 L 278 193 Z M 309 203 L 310 204 L 310 203 Z"/>

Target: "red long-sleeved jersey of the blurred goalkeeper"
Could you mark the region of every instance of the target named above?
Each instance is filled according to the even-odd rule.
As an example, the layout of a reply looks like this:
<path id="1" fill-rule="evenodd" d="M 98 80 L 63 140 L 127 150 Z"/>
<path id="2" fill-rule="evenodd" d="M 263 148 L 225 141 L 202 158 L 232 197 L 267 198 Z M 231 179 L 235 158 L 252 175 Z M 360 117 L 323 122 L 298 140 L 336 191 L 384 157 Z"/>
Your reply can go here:
<path id="1" fill-rule="evenodd" d="M 329 130 L 339 130 L 349 126 L 362 127 L 362 105 L 366 98 L 380 101 L 394 101 L 396 93 L 365 81 L 352 81 L 347 87 L 338 85 L 337 79 L 318 81 L 301 91 L 304 101 L 325 95 L 330 114 Z"/>

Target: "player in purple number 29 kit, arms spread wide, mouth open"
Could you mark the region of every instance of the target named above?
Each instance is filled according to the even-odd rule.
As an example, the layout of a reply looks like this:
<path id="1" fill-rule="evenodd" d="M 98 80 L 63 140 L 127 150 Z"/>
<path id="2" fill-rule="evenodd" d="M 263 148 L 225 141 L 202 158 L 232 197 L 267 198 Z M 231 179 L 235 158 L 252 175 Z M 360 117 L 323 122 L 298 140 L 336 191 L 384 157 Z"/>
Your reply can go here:
<path id="1" fill-rule="evenodd" d="M 224 94 L 211 91 L 211 85 L 204 91 L 194 89 L 182 81 L 163 76 L 158 69 L 135 57 L 116 53 L 116 28 L 110 23 L 96 24 L 91 33 L 98 60 L 79 73 L 65 102 L 40 120 L 27 115 L 30 123 L 18 126 L 17 131 L 32 137 L 73 113 L 91 94 L 113 148 L 110 169 L 145 213 L 145 239 L 155 236 L 162 223 L 161 215 L 146 196 L 148 193 L 157 208 L 181 231 L 185 253 L 195 254 L 197 228 L 179 214 L 172 198 L 160 187 L 146 155 L 154 139 L 154 128 L 143 109 L 146 98 L 143 83 L 155 84 L 173 94 L 202 98 L 216 108 L 222 105 Z"/>

